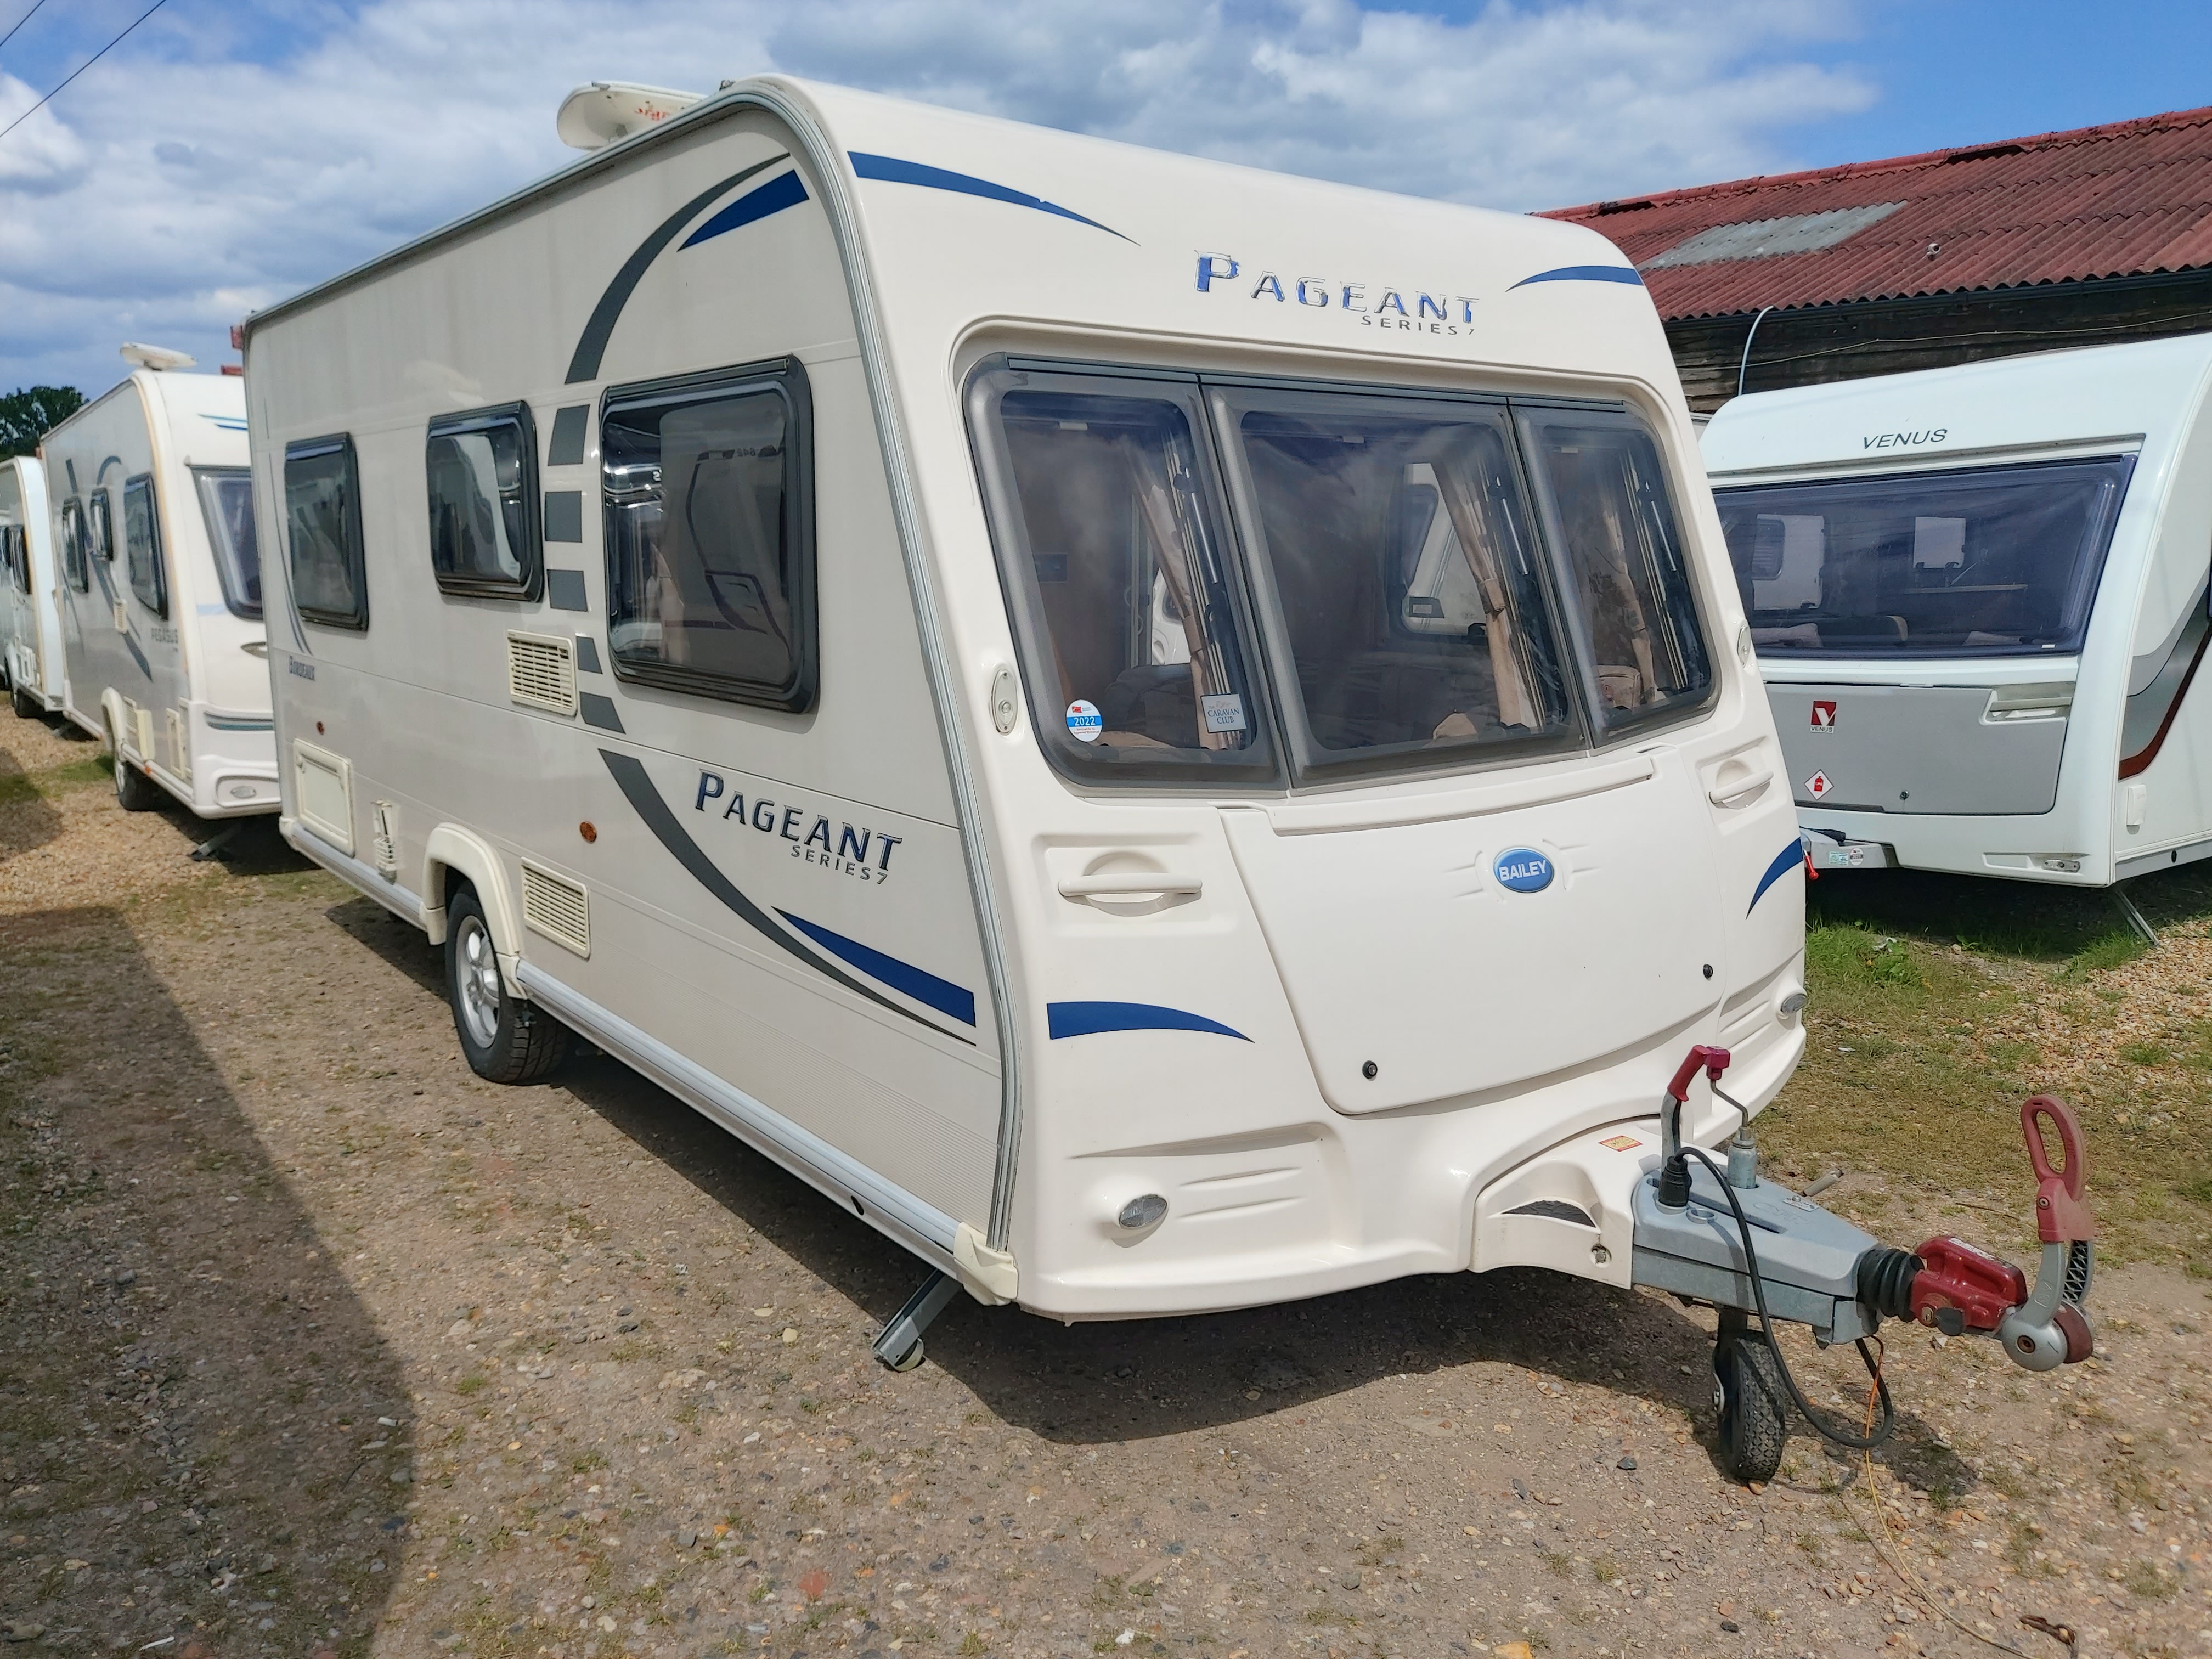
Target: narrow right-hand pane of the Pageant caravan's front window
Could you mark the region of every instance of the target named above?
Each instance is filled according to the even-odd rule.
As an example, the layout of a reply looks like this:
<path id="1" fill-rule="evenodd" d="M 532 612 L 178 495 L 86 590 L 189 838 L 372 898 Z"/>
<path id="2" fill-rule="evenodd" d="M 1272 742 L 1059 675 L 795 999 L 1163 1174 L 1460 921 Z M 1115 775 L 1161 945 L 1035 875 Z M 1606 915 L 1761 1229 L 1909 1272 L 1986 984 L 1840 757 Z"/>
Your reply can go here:
<path id="1" fill-rule="evenodd" d="M 1524 411 L 1522 434 L 1599 723 L 1619 732 L 1701 703 L 1712 661 L 1659 447 L 1626 414 Z"/>

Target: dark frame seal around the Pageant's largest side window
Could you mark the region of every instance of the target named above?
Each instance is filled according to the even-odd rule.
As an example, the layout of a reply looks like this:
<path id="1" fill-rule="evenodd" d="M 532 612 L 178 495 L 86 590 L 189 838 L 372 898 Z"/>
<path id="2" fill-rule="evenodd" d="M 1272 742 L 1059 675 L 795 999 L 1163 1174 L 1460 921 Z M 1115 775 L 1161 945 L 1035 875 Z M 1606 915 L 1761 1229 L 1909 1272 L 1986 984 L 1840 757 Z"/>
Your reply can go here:
<path id="1" fill-rule="evenodd" d="M 783 398 L 787 418 L 783 440 L 783 522 L 796 549 L 790 588 L 796 648 L 792 653 L 792 672 L 781 686 L 734 679 L 703 668 L 635 661 L 615 648 L 617 538 L 613 529 L 617 509 L 606 489 L 606 416 L 611 409 L 639 403 L 703 400 L 686 396 L 692 392 L 721 392 L 726 396 L 772 392 Z M 723 703 L 772 708 L 785 714 L 803 714 L 814 708 L 821 699 L 821 606 L 816 602 L 814 544 L 814 389 L 807 383 L 805 365 L 796 356 L 776 356 L 721 369 L 695 369 L 690 374 L 611 385 L 599 394 L 595 414 L 599 431 L 599 467 L 595 471 L 599 476 L 599 560 L 606 584 L 606 657 L 615 679 L 626 686 L 653 686 L 686 697 L 712 697 Z"/>

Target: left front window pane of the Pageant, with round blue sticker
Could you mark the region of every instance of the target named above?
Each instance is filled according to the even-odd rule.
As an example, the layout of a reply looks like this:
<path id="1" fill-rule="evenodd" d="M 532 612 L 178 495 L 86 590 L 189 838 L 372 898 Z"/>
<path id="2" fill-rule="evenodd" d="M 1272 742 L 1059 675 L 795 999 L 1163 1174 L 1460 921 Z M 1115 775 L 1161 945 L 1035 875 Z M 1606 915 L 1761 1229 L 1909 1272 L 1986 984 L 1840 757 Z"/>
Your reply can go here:
<path id="1" fill-rule="evenodd" d="M 973 425 L 1029 706 L 1086 779 L 1274 776 L 1194 385 L 1004 369 Z"/>

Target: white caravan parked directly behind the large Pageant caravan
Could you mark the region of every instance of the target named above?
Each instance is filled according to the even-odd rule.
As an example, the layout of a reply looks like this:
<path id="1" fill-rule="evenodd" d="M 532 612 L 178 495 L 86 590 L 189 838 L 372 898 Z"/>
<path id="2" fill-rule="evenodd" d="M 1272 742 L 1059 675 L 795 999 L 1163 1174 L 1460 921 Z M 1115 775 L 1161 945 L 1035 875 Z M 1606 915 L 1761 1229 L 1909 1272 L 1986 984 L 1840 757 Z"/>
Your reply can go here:
<path id="1" fill-rule="evenodd" d="M 64 712 L 115 754 L 131 812 L 159 790 L 201 818 L 276 812 L 246 383 L 137 369 L 46 434 Z M 175 365 L 175 367 L 173 367 Z"/>

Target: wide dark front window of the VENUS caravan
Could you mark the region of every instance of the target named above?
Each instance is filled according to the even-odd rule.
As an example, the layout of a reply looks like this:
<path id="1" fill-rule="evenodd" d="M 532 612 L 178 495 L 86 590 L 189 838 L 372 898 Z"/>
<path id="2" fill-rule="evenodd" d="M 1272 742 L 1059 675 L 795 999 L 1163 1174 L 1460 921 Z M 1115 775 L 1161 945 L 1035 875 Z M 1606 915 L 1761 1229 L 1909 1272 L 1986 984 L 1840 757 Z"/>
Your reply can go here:
<path id="1" fill-rule="evenodd" d="M 1719 493 L 1761 655 L 2079 650 L 2132 458 Z"/>

